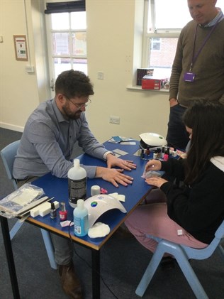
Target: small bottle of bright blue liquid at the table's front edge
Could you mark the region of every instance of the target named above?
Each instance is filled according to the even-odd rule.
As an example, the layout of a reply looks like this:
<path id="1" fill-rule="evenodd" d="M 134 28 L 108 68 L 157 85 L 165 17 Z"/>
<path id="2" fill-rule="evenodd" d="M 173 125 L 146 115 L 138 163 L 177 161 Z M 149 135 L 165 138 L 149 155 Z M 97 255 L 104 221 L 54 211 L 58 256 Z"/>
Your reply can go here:
<path id="1" fill-rule="evenodd" d="M 83 237 L 89 230 L 88 210 L 84 207 L 84 200 L 77 201 L 77 207 L 73 212 L 74 216 L 74 234 L 77 237 Z"/>

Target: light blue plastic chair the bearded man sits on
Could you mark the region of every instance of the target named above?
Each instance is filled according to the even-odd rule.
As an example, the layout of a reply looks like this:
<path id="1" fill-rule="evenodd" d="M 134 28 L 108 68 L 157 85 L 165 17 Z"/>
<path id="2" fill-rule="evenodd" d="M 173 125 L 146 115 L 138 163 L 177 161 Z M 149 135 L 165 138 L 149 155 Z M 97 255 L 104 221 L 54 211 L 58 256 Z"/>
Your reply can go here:
<path id="1" fill-rule="evenodd" d="M 13 178 L 13 163 L 15 160 L 19 143 L 20 140 L 14 141 L 1 150 L 1 158 L 6 169 L 7 176 L 9 180 L 11 180 L 11 182 L 13 183 L 13 187 L 15 190 L 18 189 L 18 187 L 16 184 L 16 180 Z M 16 224 L 14 224 L 13 228 L 10 231 L 10 239 L 13 239 L 18 230 L 21 228 L 22 224 L 23 222 L 20 222 L 19 220 L 16 222 Z M 40 229 L 40 231 L 47 251 L 47 256 L 50 261 L 50 266 L 56 270 L 57 263 L 55 262 L 54 248 L 52 245 L 50 233 L 47 232 L 45 229 Z"/>

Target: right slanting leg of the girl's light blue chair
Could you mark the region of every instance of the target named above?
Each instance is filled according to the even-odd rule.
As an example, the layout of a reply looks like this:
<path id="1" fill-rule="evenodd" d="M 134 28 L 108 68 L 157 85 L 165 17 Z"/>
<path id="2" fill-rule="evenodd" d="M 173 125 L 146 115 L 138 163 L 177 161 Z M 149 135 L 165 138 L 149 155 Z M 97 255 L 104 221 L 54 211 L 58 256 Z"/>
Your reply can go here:
<path id="1" fill-rule="evenodd" d="M 189 285 L 191 286 L 191 289 L 193 290 L 196 298 L 208 299 L 208 295 L 206 294 L 205 290 L 201 286 L 200 281 L 198 281 L 198 278 L 194 273 L 194 270 L 191 267 L 189 260 L 186 258 L 186 256 L 184 254 L 181 254 L 181 256 L 178 255 L 175 256 L 175 258 L 177 259 L 179 267 L 181 268 L 181 271 L 184 273 L 184 276 L 188 281 Z"/>

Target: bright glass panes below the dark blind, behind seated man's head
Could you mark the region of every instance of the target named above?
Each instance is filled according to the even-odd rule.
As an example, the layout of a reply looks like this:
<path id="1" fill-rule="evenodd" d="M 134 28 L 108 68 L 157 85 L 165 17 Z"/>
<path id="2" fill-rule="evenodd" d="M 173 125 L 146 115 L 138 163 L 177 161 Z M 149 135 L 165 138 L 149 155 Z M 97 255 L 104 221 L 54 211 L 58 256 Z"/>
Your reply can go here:
<path id="1" fill-rule="evenodd" d="M 50 18 L 55 77 L 72 68 L 87 73 L 86 12 L 52 13 Z"/>

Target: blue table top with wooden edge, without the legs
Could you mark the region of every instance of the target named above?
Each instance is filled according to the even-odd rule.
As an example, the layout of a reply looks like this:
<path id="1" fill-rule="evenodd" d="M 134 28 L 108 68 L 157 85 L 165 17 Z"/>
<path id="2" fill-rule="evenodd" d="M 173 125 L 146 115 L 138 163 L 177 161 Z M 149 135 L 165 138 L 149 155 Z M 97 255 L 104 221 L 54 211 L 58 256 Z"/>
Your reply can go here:
<path id="1" fill-rule="evenodd" d="M 102 180 L 101 178 L 94 178 L 94 179 L 88 179 L 87 180 L 87 198 L 90 197 L 90 190 L 91 186 L 93 185 L 99 185 L 100 187 L 103 187 L 108 191 L 108 193 L 118 192 L 118 194 L 125 195 L 125 202 L 122 202 L 123 206 L 127 210 L 127 214 L 130 213 L 132 210 L 135 209 L 135 207 L 140 203 L 142 198 L 145 197 L 147 192 L 150 192 L 151 187 L 145 183 L 145 180 L 141 178 L 142 173 L 145 168 L 145 164 L 147 163 L 147 160 L 142 160 L 140 156 L 135 156 L 134 154 L 136 151 L 138 151 L 139 143 L 138 141 L 135 141 L 135 145 L 128 145 L 126 143 L 125 145 L 121 144 L 114 144 L 106 142 L 104 143 L 105 147 L 108 148 L 110 151 L 114 151 L 116 149 L 119 149 L 121 151 L 127 152 L 124 156 L 121 156 L 121 158 L 125 160 L 131 160 L 134 163 L 136 163 L 137 168 L 132 171 L 124 171 L 125 174 L 130 175 L 134 178 L 133 184 L 128 185 L 127 187 L 124 187 L 122 185 L 119 185 L 118 188 L 114 187 L 111 183 L 106 182 L 105 180 Z M 151 157 L 150 157 L 151 158 Z M 79 156 L 80 163 L 84 165 L 98 165 L 98 166 L 105 166 L 106 162 L 101 161 L 100 159 L 93 158 L 87 154 L 84 154 L 82 156 Z M 73 221 L 73 209 L 69 206 L 68 202 L 68 181 L 65 178 L 57 178 L 51 173 L 47 173 L 47 175 L 44 175 L 42 178 L 38 178 L 38 180 L 35 180 L 33 182 L 33 185 L 37 185 L 39 187 L 42 187 L 45 195 L 48 197 L 55 197 L 54 200 L 57 200 L 58 202 L 64 201 L 66 203 L 66 208 L 68 211 L 67 219 L 69 221 Z M 73 226 L 68 229 L 68 227 L 62 228 L 60 225 L 60 217 L 59 217 L 59 210 L 57 210 L 57 218 L 51 219 L 50 214 L 47 214 L 45 217 L 29 217 L 28 222 L 32 222 L 40 227 L 46 228 L 47 230 L 50 230 L 52 232 L 55 232 L 57 234 L 62 234 L 65 237 L 69 237 L 69 230 L 70 235 L 74 241 L 78 241 L 79 243 L 82 243 L 86 246 L 89 246 L 91 248 L 94 248 L 96 250 L 99 250 L 101 246 L 106 242 L 106 240 L 111 237 L 111 234 L 113 234 L 114 230 L 123 223 L 125 218 L 127 217 L 127 214 L 121 212 L 118 209 L 109 210 L 108 212 L 104 213 L 97 219 L 97 222 L 103 222 L 105 224 L 108 224 L 111 228 L 111 233 L 108 234 L 108 236 L 104 238 L 96 238 L 91 239 L 86 235 L 85 237 L 76 237 L 74 236 L 73 232 Z"/>

